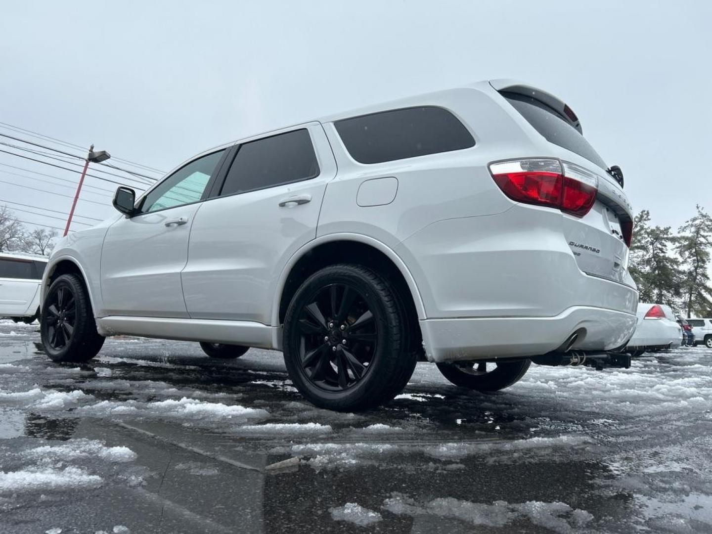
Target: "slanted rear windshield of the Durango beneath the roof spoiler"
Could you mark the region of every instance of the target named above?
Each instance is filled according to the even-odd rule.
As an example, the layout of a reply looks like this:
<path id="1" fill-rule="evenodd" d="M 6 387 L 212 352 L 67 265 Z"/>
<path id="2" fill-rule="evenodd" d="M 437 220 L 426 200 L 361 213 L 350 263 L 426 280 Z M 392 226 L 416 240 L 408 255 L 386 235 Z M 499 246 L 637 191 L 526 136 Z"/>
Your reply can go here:
<path id="1" fill-rule="evenodd" d="M 554 108 L 550 108 L 545 103 L 531 98 L 530 96 L 518 93 L 508 93 L 502 91 L 501 95 L 514 106 L 515 110 L 532 125 L 537 132 L 545 137 L 548 142 L 559 145 L 566 150 L 576 152 L 585 157 L 590 162 L 597 164 L 602 169 L 606 169 L 606 163 L 598 152 L 593 150 L 583 135 L 575 127 L 560 115 Z"/>

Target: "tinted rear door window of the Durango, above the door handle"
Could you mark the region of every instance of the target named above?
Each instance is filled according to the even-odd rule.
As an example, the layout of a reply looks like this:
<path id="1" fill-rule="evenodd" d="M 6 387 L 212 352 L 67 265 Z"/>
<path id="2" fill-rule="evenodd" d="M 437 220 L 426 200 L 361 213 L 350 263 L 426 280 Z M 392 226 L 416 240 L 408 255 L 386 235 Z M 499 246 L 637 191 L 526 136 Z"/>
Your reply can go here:
<path id="1" fill-rule="evenodd" d="M 241 145 L 220 194 L 300 182 L 318 174 L 319 164 L 309 132 L 295 130 Z"/>

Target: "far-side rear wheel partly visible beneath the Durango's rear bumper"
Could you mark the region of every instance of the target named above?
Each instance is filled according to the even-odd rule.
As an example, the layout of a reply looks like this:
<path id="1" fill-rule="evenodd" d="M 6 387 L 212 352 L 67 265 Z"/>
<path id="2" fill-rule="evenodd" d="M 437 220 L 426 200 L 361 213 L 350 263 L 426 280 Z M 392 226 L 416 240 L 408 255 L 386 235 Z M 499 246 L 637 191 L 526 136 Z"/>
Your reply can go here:
<path id="1" fill-rule="evenodd" d="M 519 362 L 439 363 L 438 369 L 450 382 L 479 392 L 494 392 L 518 382 L 529 369 L 531 360 Z M 495 366 L 493 369 L 492 366 Z M 490 367 L 490 369 L 488 369 Z"/>

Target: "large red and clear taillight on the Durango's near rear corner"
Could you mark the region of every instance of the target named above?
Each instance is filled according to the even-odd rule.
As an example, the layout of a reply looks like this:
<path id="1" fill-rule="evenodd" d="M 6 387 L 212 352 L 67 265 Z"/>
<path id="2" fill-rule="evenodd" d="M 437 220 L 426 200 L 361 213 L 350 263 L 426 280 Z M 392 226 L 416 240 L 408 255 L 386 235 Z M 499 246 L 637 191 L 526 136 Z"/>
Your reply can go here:
<path id="1" fill-rule="evenodd" d="M 587 214 L 598 190 L 595 174 L 558 159 L 517 159 L 491 163 L 490 172 L 507 197 L 524 204 L 560 209 L 582 217 Z"/>

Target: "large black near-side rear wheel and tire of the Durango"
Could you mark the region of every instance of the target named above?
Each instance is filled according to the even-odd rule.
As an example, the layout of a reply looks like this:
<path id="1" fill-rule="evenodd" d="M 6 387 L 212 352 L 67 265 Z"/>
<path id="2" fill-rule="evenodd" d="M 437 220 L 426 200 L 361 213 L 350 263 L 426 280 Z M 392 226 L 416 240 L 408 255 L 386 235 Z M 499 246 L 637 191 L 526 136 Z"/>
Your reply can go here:
<path id="1" fill-rule="evenodd" d="M 396 291 L 378 273 L 350 264 L 323 268 L 297 290 L 286 313 L 290 378 L 322 408 L 353 411 L 387 402 L 417 359 L 405 324 Z"/>

